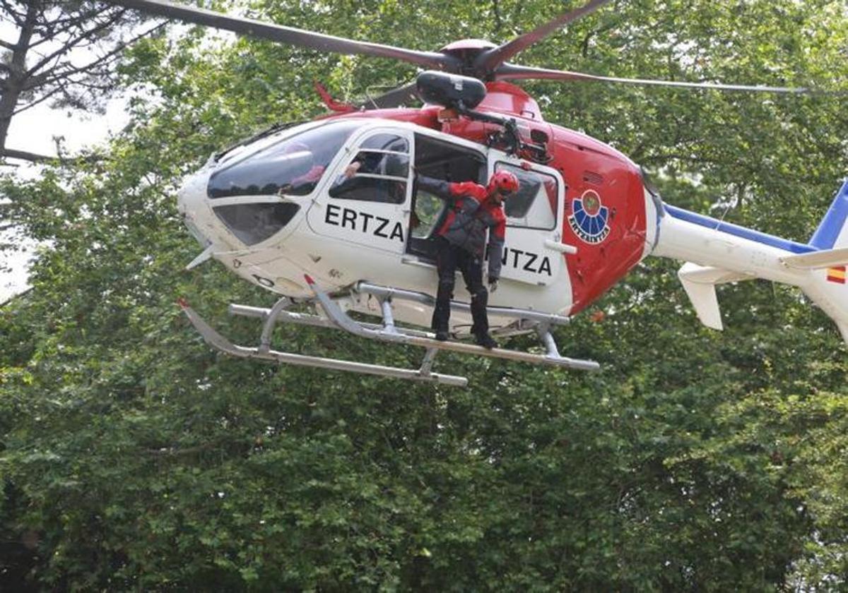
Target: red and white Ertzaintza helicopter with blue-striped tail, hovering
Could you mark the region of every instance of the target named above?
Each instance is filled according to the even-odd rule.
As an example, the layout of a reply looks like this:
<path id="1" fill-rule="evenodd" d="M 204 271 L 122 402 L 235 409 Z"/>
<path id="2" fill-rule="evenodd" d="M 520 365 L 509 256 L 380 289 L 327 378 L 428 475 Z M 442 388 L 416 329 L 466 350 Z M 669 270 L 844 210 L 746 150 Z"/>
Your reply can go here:
<path id="1" fill-rule="evenodd" d="M 562 356 L 552 330 L 568 324 L 648 256 L 681 260 L 678 277 L 702 324 L 722 330 L 716 286 L 756 278 L 801 288 L 848 342 L 848 181 L 809 242 L 725 223 L 663 202 L 636 163 L 604 142 L 545 121 L 512 80 L 603 81 L 719 91 L 806 93 L 815 89 L 622 79 L 508 62 L 560 27 L 601 8 L 591 0 L 501 45 L 476 39 L 422 52 L 326 36 L 170 0 L 111 0 L 149 14 L 334 53 L 397 58 L 424 68 L 410 85 L 365 105 L 339 103 L 316 84 L 329 113 L 275 125 L 217 152 L 187 176 L 178 210 L 203 252 L 243 280 L 275 293 L 271 308 L 232 304 L 259 319 L 258 346 L 237 346 L 180 301 L 220 352 L 276 363 L 464 386 L 433 372 L 438 352 L 597 370 Z M 407 105 L 418 99 L 420 108 Z M 351 175 L 353 163 L 369 163 Z M 544 352 L 486 349 L 470 335 L 470 295 L 457 285 L 451 337 L 429 330 L 438 284 L 434 238 L 448 205 L 419 175 L 485 185 L 516 175 L 505 201 L 499 290 L 488 302 L 492 333 L 534 333 Z M 296 307 L 297 306 L 297 307 Z M 304 313 L 304 308 L 306 312 Z M 354 313 L 354 316 L 351 316 Z M 362 321 L 376 317 L 376 323 Z M 272 349 L 277 324 L 343 330 L 418 346 L 418 369 Z M 400 325 L 403 324 L 403 325 Z"/>

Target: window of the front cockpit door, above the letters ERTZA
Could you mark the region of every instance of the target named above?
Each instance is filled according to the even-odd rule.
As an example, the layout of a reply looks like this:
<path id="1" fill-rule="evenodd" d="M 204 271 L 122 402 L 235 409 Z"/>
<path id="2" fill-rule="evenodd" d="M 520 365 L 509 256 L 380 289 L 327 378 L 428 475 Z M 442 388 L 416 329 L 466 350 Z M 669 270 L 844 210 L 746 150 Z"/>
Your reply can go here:
<path id="1" fill-rule="evenodd" d="M 402 204 L 410 172 L 409 152 L 409 142 L 401 136 L 368 136 L 330 188 L 330 197 Z"/>

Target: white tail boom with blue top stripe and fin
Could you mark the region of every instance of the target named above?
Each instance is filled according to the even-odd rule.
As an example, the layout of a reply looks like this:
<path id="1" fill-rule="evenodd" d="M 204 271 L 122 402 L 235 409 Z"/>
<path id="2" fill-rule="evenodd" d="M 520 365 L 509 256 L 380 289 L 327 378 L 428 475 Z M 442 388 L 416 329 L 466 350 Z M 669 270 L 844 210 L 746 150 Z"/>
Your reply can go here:
<path id="1" fill-rule="evenodd" d="M 848 343 L 848 181 L 808 244 L 666 205 L 651 253 L 681 259 L 678 277 L 701 323 L 722 330 L 716 285 L 760 278 L 795 285 Z"/>

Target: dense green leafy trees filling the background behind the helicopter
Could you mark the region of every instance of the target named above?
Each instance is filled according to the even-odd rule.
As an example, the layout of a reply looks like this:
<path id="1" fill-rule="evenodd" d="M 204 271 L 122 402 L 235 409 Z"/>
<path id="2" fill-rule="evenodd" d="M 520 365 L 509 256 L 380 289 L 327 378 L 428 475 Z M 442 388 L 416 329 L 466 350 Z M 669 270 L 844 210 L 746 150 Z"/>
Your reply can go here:
<path id="1" fill-rule="evenodd" d="M 437 49 L 501 42 L 536 0 L 257 3 L 259 16 Z M 842 3 L 639 0 L 516 61 L 604 75 L 845 88 Z M 812 590 L 845 586 L 845 346 L 796 291 L 722 288 L 700 327 L 676 264 L 650 261 L 558 335 L 602 374 L 446 355 L 457 390 L 210 352 L 187 296 L 270 295 L 212 264 L 174 207 L 181 175 L 272 121 L 413 70 L 200 30 L 121 74 L 131 126 L 108 159 L 3 180 L 2 216 L 44 241 L 0 310 L 0 584 L 42 590 Z M 834 97 L 527 85 L 546 117 L 656 172 L 669 202 L 803 240 L 848 162 Z M 148 97 L 142 99 L 141 97 Z M 723 201 L 722 201 L 722 197 Z M 721 210 L 719 210 L 721 213 Z M 318 330 L 293 352 L 412 365 Z M 520 340 L 519 340 L 520 342 Z M 516 344 L 517 346 L 517 344 Z"/>

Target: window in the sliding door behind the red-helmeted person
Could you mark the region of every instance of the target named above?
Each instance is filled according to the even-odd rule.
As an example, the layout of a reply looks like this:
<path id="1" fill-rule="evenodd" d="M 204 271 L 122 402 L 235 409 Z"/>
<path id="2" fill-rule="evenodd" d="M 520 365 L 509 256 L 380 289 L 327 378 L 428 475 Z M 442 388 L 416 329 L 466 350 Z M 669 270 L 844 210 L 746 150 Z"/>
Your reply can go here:
<path id="1" fill-rule="evenodd" d="M 507 226 L 553 230 L 556 225 L 556 178 L 506 163 L 498 163 L 495 169 L 510 171 L 518 178 L 518 192 L 504 202 Z"/>

